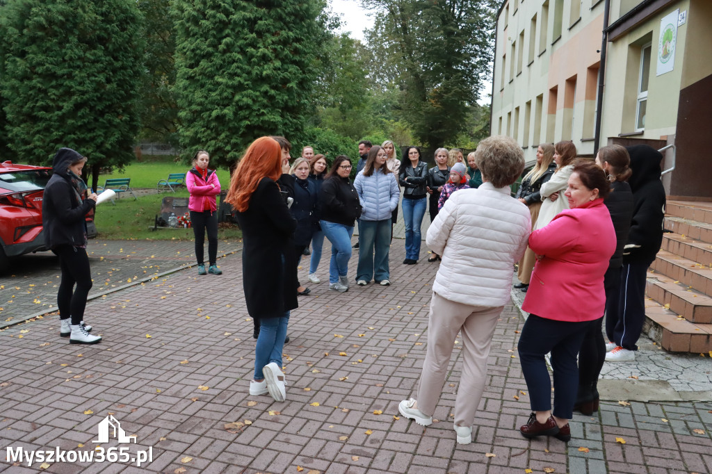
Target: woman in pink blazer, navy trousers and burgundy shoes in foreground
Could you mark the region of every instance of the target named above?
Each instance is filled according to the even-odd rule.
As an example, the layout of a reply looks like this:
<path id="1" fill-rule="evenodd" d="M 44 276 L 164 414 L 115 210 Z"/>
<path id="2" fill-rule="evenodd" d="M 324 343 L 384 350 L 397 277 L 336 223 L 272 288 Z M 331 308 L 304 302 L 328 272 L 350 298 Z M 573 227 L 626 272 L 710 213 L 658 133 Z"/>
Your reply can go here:
<path id="1" fill-rule="evenodd" d="M 603 276 L 616 249 L 616 235 L 603 200 L 610 184 L 590 160 L 577 162 L 565 192 L 570 209 L 529 236 L 538 256 L 522 309 L 518 350 L 533 411 L 521 426 L 525 438 L 552 435 L 569 441 L 569 419 L 578 389 L 576 357 L 589 325 L 601 317 Z M 545 354 L 551 352 L 554 409 Z"/>

